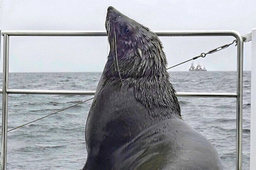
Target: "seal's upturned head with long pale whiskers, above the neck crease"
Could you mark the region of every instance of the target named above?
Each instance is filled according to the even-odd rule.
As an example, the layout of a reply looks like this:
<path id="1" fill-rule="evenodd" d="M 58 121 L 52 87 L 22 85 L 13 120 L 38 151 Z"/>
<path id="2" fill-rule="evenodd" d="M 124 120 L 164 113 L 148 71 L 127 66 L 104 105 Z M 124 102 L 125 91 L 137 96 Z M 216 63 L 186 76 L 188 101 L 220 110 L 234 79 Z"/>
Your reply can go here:
<path id="1" fill-rule="evenodd" d="M 113 61 L 110 63 L 112 71 L 117 70 L 118 62 L 124 79 L 152 76 L 152 72 L 162 76 L 167 62 L 155 33 L 112 6 L 108 8 L 105 25 L 111 49 L 109 58 Z M 112 73 L 116 75 L 116 71 Z"/>

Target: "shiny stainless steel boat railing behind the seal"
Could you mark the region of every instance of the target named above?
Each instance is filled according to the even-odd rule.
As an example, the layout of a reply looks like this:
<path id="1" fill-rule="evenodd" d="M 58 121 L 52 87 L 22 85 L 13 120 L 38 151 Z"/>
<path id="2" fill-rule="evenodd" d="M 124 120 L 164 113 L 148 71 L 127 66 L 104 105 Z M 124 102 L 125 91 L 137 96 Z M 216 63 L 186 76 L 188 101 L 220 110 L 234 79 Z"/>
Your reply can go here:
<path id="1" fill-rule="evenodd" d="M 154 31 L 158 36 L 233 36 L 237 40 L 237 90 L 236 93 L 197 93 L 177 92 L 179 97 L 231 97 L 236 98 L 236 169 L 242 170 L 242 97 L 243 97 L 243 38 L 233 30 L 219 31 Z M 2 31 L 3 51 L 3 87 L 2 92 L 2 147 L 1 169 L 6 170 L 7 163 L 7 123 L 8 94 L 70 94 L 94 95 L 95 91 L 73 90 L 29 90 L 9 89 L 9 38 L 10 36 L 107 36 L 105 31 Z"/>

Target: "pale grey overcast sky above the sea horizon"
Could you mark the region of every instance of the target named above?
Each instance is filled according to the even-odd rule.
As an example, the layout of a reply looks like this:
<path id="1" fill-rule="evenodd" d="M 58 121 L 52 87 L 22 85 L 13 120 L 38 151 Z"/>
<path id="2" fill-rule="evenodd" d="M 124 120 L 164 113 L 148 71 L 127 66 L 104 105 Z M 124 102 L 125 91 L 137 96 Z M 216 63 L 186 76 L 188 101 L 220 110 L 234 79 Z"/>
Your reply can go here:
<path id="1" fill-rule="evenodd" d="M 112 5 L 151 30 L 234 29 L 245 34 L 256 28 L 253 1 L 68 1 L 2 0 L 2 30 L 105 30 Z M 160 37 L 169 66 L 232 42 L 233 37 Z M 11 37 L 10 72 L 102 71 L 106 37 Z M 207 70 L 236 70 L 236 48 L 195 60 Z M 186 71 L 191 63 L 171 71 Z M 1 46 L 2 68 L 2 46 Z M 244 70 L 251 70 L 251 42 L 245 43 Z M 2 71 L 2 69 L 1 69 Z"/>

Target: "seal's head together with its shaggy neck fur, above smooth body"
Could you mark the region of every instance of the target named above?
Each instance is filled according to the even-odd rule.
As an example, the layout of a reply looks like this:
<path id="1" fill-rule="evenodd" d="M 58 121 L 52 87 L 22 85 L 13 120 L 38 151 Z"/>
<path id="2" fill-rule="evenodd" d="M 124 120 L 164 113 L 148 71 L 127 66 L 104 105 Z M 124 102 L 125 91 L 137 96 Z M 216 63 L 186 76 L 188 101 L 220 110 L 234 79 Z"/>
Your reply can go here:
<path id="1" fill-rule="evenodd" d="M 145 106 L 172 108 L 181 117 L 158 36 L 112 6 L 108 8 L 105 26 L 110 52 L 103 75 L 119 85 L 134 87 L 137 100 Z"/>

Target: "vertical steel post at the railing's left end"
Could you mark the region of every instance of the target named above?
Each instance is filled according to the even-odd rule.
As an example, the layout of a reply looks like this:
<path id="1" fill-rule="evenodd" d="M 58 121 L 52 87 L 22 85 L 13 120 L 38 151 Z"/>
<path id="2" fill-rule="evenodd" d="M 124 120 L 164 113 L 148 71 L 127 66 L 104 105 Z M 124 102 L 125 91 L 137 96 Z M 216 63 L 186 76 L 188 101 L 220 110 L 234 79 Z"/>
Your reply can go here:
<path id="1" fill-rule="evenodd" d="M 3 94 L 2 94 L 2 146 L 1 169 L 6 170 L 7 163 L 7 124 L 8 124 L 8 75 L 9 75 L 9 36 L 4 34 L 3 53 Z"/>

